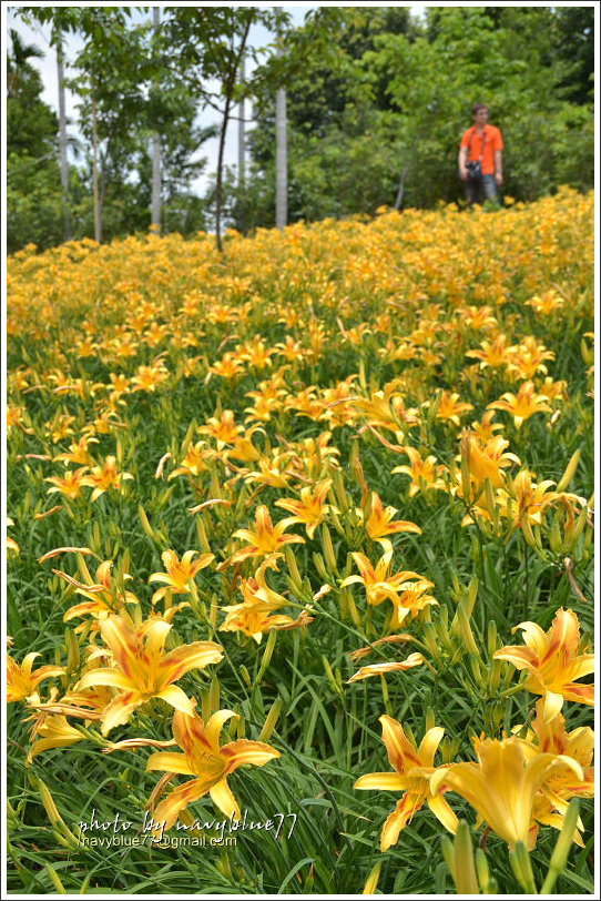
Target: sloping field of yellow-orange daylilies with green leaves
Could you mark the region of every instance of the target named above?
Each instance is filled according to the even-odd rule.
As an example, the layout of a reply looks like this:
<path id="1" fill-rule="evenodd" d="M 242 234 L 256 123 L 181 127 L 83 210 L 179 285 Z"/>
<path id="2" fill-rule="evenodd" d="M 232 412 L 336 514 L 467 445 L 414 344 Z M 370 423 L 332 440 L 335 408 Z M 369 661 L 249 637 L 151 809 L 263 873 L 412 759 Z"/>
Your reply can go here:
<path id="1" fill-rule="evenodd" d="M 9 259 L 10 891 L 593 891 L 592 229 Z"/>

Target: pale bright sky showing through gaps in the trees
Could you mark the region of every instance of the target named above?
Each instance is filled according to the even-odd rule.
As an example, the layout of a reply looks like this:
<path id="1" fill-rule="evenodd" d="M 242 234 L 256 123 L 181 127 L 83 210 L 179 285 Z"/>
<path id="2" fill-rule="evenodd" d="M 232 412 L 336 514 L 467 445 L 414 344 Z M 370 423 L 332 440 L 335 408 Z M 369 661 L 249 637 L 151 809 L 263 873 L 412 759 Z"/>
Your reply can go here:
<path id="1" fill-rule="evenodd" d="M 58 113 L 59 102 L 58 102 L 58 78 L 57 78 L 57 55 L 52 47 L 50 47 L 50 27 L 35 27 L 34 29 L 28 28 L 23 24 L 23 22 L 16 17 L 14 12 L 19 6 L 24 6 L 21 3 L 11 3 L 7 10 L 7 38 L 6 44 L 9 44 L 8 40 L 8 30 L 10 28 L 14 28 L 23 38 L 24 41 L 28 43 L 37 44 L 43 52 L 43 59 L 34 59 L 30 60 L 30 63 L 34 65 L 41 74 L 42 83 L 44 85 L 44 90 L 42 93 L 42 100 L 47 103 L 51 109 L 53 109 Z M 45 3 L 29 3 L 28 6 L 45 6 Z M 54 3 L 54 6 L 93 6 L 92 3 Z M 133 3 L 121 3 L 121 7 L 126 6 L 134 6 Z M 137 6 L 137 4 L 136 4 Z M 179 3 L 157 3 L 152 6 L 159 6 L 162 9 L 170 7 L 170 6 L 183 6 Z M 224 3 L 224 6 L 234 6 L 230 3 Z M 246 3 L 240 3 L 236 6 L 246 6 Z M 247 6 L 251 6 L 248 3 Z M 255 7 L 266 7 L 272 6 L 271 3 L 263 3 L 263 2 L 253 2 L 252 6 Z M 281 4 L 284 9 L 286 9 L 292 17 L 292 26 L 298 27 L 302 26 L 305 19 L 306 13 L 310 9 L 315 9 L 320 4 L 307 6 L 306 3 L 282 3 Z M 329 3 L 327 6 L 338 6 L 337 3 Z M 339 6 L 349 6 L 348 2 L 340 3 Z M 360 3 L 355 6 L 373 6 L 371 3 Z M 385 4 L 383 6 L 395 6 L 395 4 Z M 399 4 L 403 6 L 403 4 Z M 414 14 L 419 16 L 422 12 L 422 9 L 428 6 L 427 3 L 418 3 L 410 6 L 411 12 Z M 147 16 L 149 20 L 151 14 Z M 262 26 L 255 26 L 251 30 L 249 34 L 249 45 L 255 48 L 266 47 L 269 42 L 273 41 L 273 36 L 267 32 L 265 28 Z M 80 39 L 70 37 L 64 42 L 64 54 L 65 61 L 69 63 L 69 60 L 72 60 L 77 53 L 82 49 L 82 42 Z M 248 64 L 247 74 L 249 74 L 251 67 Z M 72 77 L 74 74 L 73 70 L 69 69 L 67 65 L 65 77 Z M 211 87 L 211 85 L 210 85 Z M 77 104 L 78 98 L 71 91 L 67 91 L 65 97 L 65 108 L 67 108 L 67 118 L 70 121 L 68 124 L 68 135 L 78 138 L 80 136 L 80 132 L 77 126 L 78 122 L 78 110 Z M 237 113 L 237 111 L 236 111 Z M 251 104 L 246 102 L 245 109 L 246 118 L 251 114 Z M 202 126 L 211 125 L 218 122 L 217 114 L 212 110 L 206 110 L 205 112 L 201 113 L 197 118 L 197 123 Z M 252 128 L 252 123 L 247 125 L 247 130 Z M 217 148 L 218 148 L 218 139 L 210 139 L 205 141 L 196 158 L 194 159 L 207 159 L 207 164 L 205 166 L 204 172 L 196 179 L 193 183 L 193 190 L 198 194 L 203 195 L 206 191 L 210 176 L 215 172 L 216 169 L 216 161 L 217 161 Z M 71 160 L 73 162 L 73 160 Z M 225 145 L 225 165 L 235 166 L 237 165 L 238 161 L 238 125 L 237 122 L 232 122 L 227 130 L 227 138 L 226 138 L 226 145 Z"/>

